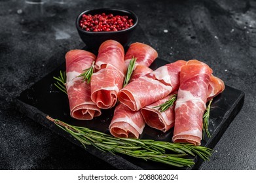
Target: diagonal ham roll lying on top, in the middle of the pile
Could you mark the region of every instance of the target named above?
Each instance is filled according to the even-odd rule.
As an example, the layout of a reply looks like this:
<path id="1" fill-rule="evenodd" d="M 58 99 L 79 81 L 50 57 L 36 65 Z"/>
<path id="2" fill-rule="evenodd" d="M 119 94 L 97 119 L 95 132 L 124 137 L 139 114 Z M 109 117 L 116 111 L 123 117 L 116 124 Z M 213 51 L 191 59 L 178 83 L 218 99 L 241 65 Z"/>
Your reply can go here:
<path id="1" fill-rule="evenodd" d="M 166 97 L 179 87 L 179 72 L 187 62 L 178 60 L 130 82 L 117 95 L 120 103 L 139 110 Z"/>

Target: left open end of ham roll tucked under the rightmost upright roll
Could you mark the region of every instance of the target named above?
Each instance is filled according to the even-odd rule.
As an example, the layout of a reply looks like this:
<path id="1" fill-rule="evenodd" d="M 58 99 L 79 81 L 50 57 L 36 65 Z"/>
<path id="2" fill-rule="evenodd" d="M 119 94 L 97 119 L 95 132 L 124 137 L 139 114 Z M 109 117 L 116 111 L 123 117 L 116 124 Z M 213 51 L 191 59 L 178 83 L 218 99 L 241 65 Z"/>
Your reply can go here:
<path id="1" fill-rule="evenodd" d="M 166 101 L 168 101 L 170 97 L 172 97 L 172 95 L 174 94 L 177 94 L 177 91 L 175 91 L 174 93 L 171 93 L 170 95 L 167 95 L 163 99 L 160 99 L 151 105 L 147 105 L 146 107 L 141 108 L 141 114 L 147 125 L 155 129 L 158 129 L 162 132 L 166 132 L 174 126 L 175 105 L 172 105 L 164 112 L 161 112 L 160 110 L 158 110 L 159 107 L 157 107 L 158 105 L 161 105 Z"/>

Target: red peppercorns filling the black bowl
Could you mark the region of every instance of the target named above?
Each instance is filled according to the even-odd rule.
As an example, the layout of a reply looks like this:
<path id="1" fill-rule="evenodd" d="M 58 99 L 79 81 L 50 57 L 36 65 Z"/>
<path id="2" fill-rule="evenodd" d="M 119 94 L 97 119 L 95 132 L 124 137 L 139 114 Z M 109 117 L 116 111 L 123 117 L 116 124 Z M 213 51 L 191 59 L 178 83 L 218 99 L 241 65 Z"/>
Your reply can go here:
<path id="1" fill-rule="evenodd" d="M 86 31 L 120 31 L 132 27 L 134 22 L 128 16 L 113 14 L 83 14 L 79 26 Z"/>

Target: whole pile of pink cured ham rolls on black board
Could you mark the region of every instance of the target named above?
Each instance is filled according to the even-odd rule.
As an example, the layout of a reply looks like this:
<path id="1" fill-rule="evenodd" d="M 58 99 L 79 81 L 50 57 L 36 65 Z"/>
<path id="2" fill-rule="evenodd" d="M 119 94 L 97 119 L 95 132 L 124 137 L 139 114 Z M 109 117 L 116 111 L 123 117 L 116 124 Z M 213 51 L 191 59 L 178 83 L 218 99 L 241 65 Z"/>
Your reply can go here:
<path id="1" fill-rule="evenodd" d="M 145 125 L 166 132 L 174 127 L 173 142 L 200 145 L 206 103 L 223 92 L 224 82 L 212 69 L 196 59 L 177 60 L 158 67 L 149 66 L 158 54 L 147 44 L 130 44 L 127 52 L 113 40 L 105 41 L 98 56 L 85 50 L 67 52 L 66 75 L 70 115 L 92 120 L 101 110 L 115 107 L 109 132 L 115 137 L 139 138 Z M 123 86 L 128 65 L 136 58 L 129 83 Z M 81 75 L 95 61 L 88 84 Z M 177 94 L 172 107 L 160 112 L 158 105 Z"/>

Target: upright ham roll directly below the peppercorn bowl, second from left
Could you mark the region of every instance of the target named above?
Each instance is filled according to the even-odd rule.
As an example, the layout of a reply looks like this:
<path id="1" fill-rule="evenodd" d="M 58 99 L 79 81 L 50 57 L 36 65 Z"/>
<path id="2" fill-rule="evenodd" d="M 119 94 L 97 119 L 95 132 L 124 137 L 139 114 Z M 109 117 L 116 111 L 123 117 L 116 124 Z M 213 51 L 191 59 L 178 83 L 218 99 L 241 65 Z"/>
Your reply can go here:
<path id="1" fill-rule="evenodd" d="M 112 108 L 122 88 L 126 65 L 124 48 L 113 40 L 101 44 L 95 63 L 96 73 L 91 78 L 91 99 L 99 108 Z"/>

